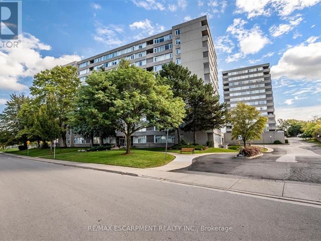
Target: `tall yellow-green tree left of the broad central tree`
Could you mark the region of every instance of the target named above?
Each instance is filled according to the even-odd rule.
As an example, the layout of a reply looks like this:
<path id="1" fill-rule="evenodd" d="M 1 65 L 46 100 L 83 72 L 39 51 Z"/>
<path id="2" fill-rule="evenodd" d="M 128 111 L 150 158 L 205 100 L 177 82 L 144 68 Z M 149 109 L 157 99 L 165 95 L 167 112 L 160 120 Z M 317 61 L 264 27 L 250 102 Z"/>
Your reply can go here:
<path id="1" fill-rule="evenodd" d="M 57 103 L 57 110 L 54 111 L 56 116 L 52 117 L 58 122 L 59 133 L 64 147 L 67 147 L 68 113 L 72 111 L 79 84 L 76 68 L 72 66 L 56 66 L 36 74 L 33 85 L 30 87 L 35 104 L 41 106 L 50 101 Z M 51 100 L 48 100 L 49 98 Z M 43 113 L 46 111 L 43 109 Z"/>

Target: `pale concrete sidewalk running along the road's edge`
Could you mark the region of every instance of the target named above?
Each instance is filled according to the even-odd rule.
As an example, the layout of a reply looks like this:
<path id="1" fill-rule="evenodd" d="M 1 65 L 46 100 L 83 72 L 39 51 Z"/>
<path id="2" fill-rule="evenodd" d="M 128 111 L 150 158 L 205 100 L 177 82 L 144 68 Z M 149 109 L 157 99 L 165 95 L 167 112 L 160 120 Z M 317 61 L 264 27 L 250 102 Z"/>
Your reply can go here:
<path id="1" fill-rule="evenodd" d="M 6 153 L 4 153 L 6 154 Z M 283 199 L 287 201 L 303 202 L 321 206 L 321 185 L 313 183 L 288 183 L 281 181 L 253 180 L 242 178 L 229 178 L 217 176 L 205 176 L 196 174 L 185 174 L 177 172 L 167 172 L 155 168 L 139 169 L 131 167 L 111 166 L 103 164 L 80 163 L 70 161 L 51 160 L 44 158 L 32 158 L 14 154 L 9 156 L 22 159 L 41 161 L 46 163 L 65 165 L 71 167 L 92 169 L 131 175 L 143 178 L 152 178 L 160 181 L 176 182 L 194 186 L 219 189 L 225 192 L 245 193 L 249 195 L 263 196 L 269 198 Z M 181 159 L 182 160 L 182 159 Z"/>

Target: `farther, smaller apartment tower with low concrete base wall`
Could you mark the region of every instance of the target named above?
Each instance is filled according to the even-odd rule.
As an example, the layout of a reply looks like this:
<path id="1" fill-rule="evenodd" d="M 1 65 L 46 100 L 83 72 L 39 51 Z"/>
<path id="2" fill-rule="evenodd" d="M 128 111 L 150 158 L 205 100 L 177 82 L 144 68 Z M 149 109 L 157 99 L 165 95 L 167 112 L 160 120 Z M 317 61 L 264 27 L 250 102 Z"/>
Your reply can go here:
<path id="1" fill-rule="evenodd" d="M 284 143 L 284 132 L 276 131 L 270 64 L 226 70 L 222 75 L 224 101 L 229 112 L 238 102 L 243 102 L 256 107 L 261 115 L 268 118 L 262 138 L 255 140 L 254 143 L 274 143 L 274 141 Z M 232 128 L 230 124 L 226 126 L 224 139 L 226 143 L 235 144 L 238 140 L 231 140 Z"/>

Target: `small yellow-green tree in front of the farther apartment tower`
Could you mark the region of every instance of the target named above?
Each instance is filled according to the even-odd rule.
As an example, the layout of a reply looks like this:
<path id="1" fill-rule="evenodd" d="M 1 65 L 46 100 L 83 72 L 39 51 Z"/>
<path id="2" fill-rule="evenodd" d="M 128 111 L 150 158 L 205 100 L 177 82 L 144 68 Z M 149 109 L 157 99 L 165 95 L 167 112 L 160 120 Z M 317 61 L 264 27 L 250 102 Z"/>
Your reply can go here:
<path id="1" fill-rule="evenodd" d="M 267 117 L 261 116 L 254 107 L 239 102 L 235 109 L 231 111 L 230 122 L 232 124 L 232 140 L 242 136 L 244 147 L 247 141 L 261 138 L 267 123 Z"/>

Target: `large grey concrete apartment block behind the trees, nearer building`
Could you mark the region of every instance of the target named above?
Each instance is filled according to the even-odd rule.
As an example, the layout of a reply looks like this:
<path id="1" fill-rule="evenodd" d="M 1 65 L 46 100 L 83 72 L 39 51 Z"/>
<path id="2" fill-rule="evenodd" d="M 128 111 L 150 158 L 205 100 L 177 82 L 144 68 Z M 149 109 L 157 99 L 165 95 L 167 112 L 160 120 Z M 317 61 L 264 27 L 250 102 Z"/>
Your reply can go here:
<path id="1" fill-rule="evenodd" d="M 135 66 L 147 71 L 158 72 L 162 66 L 173 61 L 188 67 L 193 74 L 197 74 L 205 83 L 211 83 L 218 93 L 218 72 L 216 53 L 208 26 L 206 16 L 173 26 L 172 29 L 148 38 L 109 50 L 96 56 L 70 63 L 78 71 L 79 79 L 84 82 L 93 71 L 104 67 L 109 70 L 117 67 L 124 58 Z M 68 132 L 70 133 L 70 132 Z M 177 134 L 170 134 L 168 142 L 177 143 Z M 182 137 L 187 142 L 193 141 L 192 133 L 183 133 Z M 197 134 L 198 143 L 205 144 L 214 141 L 215 146 L 222 143 L 222 134 L 219 130 L 208 130 Z M 67 136 L 69 146 L 83 146 L 88 144 L 80 136 Z M 124 146 L 124 135 L 119 132 L 116 137 L 110 137 L 105 142 Z M 147 128 L 136 132 L 131 138 L 131 144 L 137 147 L 164 146 L 166 143 L 165 132 Z"/>

